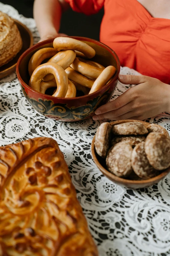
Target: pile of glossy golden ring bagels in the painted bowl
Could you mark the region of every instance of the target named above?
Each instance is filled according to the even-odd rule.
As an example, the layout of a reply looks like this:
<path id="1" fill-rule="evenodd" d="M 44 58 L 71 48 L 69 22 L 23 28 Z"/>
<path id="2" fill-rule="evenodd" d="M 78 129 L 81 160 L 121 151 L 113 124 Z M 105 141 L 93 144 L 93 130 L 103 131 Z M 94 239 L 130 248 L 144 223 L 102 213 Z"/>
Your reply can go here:
<path id="1" fill-rule="evenodd" d="M 95 50 L 87 43 L 58 37 L 53 47 L 36 51 L 28 64 L 29 86 L 46 94 L 53 88 L 54 97 L 73 98 L 77 90 L 84 95 L 92 94 L 105 86 L 116 73 L 114 66 L 106 68 L 88 60 L 95 56 Z M 43 61 L 46 63 L 41 64 Z"/>

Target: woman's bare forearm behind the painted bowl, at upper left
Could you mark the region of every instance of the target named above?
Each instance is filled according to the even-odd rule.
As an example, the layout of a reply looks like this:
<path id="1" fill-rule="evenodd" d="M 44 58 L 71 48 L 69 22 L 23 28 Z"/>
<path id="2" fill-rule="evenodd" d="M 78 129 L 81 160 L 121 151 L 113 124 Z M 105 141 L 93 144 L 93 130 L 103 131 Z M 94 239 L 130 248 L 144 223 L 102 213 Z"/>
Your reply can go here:
<path id="1" fill-rule="evenodd" d="M 65 35 L 58 32 L 62 11 L 68 6 L 64 0 L 35 0 L 34 18 L 40 34 L 40 41 Z"/>

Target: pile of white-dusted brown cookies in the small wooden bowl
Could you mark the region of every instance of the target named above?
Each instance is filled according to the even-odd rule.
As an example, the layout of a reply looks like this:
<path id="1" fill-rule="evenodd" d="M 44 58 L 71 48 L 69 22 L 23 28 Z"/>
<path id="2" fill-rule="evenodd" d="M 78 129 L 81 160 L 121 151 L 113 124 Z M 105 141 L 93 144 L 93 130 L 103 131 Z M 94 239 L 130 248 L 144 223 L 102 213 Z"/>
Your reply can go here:
<path id="1" fill-rule="evenodd" d="M 102 123 L 94 145 L 107 170 L 118 177 L 149 179 L 170 166 L 170 137 L 156 124 L 146 128 L 140 122 Z"/>

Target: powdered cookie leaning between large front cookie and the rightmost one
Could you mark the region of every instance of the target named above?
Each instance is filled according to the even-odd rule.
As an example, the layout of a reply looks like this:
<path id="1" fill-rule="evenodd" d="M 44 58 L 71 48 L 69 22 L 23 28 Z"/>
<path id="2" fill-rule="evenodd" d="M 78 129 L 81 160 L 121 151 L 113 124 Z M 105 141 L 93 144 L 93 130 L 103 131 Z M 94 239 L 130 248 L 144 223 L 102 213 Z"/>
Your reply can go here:
<path id="1" fill-rule="evenodd" d="M 132 168 L 141 179 L 149 179 L 159 174 L 149 163 L 145 153 L 145 142 L 137 144 L 132 151 Z"/>

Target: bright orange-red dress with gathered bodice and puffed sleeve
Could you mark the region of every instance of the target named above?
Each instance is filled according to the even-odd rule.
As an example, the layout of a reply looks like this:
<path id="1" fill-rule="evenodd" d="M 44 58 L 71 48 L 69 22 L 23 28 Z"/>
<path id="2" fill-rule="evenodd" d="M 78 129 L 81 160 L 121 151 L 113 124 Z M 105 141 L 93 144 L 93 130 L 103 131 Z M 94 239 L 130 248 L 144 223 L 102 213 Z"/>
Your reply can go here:
<path id="1" fill-rule="evenodd" d="M 121 66 L 170 84 L 170 20 L 153 18 L 137 0 L 65 0 L 90 15 L 103 6 L 100 41 L 119 56 Z"/>

